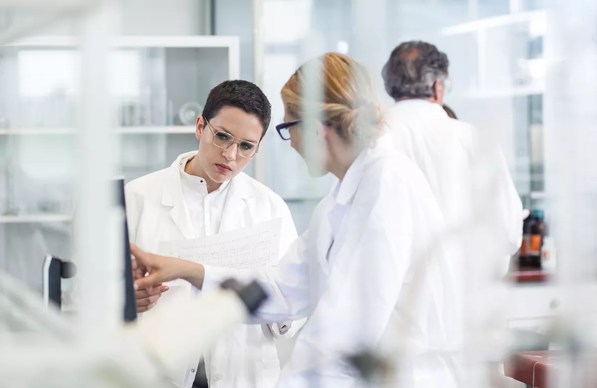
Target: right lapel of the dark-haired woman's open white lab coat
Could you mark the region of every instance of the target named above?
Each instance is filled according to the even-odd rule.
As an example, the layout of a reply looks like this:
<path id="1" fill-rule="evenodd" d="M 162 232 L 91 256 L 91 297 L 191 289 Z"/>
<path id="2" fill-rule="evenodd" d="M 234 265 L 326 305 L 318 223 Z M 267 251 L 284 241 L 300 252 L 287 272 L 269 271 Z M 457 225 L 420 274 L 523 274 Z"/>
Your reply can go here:
<path id="1" fill-rule="evenodd" d="M 245 209 L 247 208 L 247 199 L 251 197 L 253 191 L 244 178 L 241 173 L 230 181 L 230 190 L 226 197 L 226 204 L 224 204 L 219 232 L 244 228 L 252 223 L 251 220 L 247 220 Z"/>

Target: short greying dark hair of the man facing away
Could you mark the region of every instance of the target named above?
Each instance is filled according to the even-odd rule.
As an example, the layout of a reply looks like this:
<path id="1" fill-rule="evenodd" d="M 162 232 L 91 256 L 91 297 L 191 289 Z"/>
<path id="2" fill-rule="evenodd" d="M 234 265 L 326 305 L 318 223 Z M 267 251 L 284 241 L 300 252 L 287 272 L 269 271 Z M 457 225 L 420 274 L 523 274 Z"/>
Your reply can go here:
<path id="1" fill-rule="evenodd" d="M 404 42 L 396 47 L 381 70 L 387 94 L 398 98 L 433 97 L 433 85 L 448 77 L 448 57 L 432 44 Z"/>

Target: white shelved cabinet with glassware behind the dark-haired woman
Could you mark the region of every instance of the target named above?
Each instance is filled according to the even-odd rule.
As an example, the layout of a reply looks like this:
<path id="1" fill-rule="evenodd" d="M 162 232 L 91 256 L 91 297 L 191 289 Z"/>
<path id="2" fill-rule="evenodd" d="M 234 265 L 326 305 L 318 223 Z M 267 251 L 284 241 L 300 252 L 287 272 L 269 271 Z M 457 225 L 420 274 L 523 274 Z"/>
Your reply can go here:
<path id="1" fill-rule="evenodd" d="M 76 135 L 83 120 L 77 39 L 0 47 L 0 269 L 41 287 L 46 253 L 72 254 Z M 239 77 L 228 36 L 127 36 L 109 60 L 112 128 L 127 181 L 198 147 L 195 118 L 211 88 Z M 98 160 L 97 163 L 101 163 Z"/>

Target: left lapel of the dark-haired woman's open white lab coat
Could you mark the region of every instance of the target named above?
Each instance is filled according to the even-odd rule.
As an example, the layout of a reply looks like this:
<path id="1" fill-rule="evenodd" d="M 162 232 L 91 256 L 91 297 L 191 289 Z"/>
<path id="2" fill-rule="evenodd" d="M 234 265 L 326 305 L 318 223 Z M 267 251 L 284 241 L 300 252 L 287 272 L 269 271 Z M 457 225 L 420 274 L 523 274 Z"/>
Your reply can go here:
<path id="1" fill-rule="evenodd" d="M 193 224 L 190 221 L 189 210 L 184 203 L 182 187 L 180 185 L 180 161 L 197 151 L 180 155 L 170 167 L 168 167 L 168 175 L 164 191 L 162 193 L 162 205 L 171 206 L 170 218 L 174 224 L 178 226 L 184 238 L 195 238 L 195 231 Z"/>

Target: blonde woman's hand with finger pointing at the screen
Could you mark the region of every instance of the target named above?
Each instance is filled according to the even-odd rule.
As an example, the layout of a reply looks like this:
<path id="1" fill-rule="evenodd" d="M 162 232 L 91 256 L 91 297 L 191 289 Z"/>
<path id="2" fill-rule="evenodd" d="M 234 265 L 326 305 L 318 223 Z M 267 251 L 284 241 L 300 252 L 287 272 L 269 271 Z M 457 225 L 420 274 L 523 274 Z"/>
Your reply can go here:
<path id="1" fill-rule="evenodd" d="M 147 253 L 131 244 L 131 253 L 135 257 L 137 266 L 146 277 L 135 281 L 135 290 L 152 287 L 153 285 L 171 280 L 184 279 L 201 290 L 204 268 L 201 264 L 177 259 L 176 257 L 159 256 Z"/>

